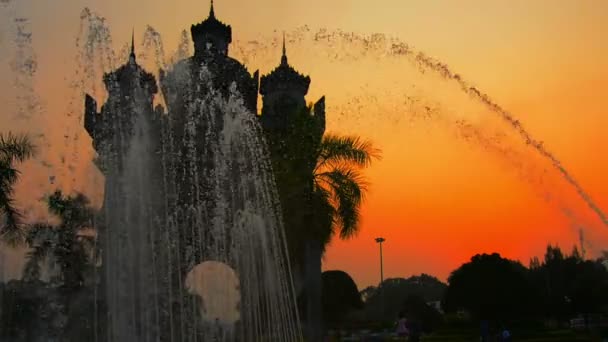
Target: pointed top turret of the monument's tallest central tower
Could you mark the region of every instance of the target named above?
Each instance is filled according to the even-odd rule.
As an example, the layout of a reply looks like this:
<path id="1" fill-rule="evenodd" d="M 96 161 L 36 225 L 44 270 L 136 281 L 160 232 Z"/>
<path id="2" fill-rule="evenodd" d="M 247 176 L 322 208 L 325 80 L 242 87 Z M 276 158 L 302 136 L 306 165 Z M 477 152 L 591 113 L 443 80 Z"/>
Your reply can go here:
<path id="1" fill-rule="evenodd" d="M 194 41 L 194 55 L 197 57 L 219 54 L 228 55 L 228 45 L 232 43 L 232 27 L 215 17 L 213 0 L 209 8 L 209 16 L 199 24 L 190 28 Z"/>

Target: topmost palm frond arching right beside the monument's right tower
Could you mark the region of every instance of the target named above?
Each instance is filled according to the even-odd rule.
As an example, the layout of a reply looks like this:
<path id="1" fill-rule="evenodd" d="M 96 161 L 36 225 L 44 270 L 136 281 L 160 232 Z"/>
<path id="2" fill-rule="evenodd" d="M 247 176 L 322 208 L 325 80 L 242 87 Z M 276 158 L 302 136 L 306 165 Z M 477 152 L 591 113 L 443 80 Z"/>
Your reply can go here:
<path id="1" fill-rule="evenodd" d="M 325 135 L 319 147 L 316 170 L 336 164 L 369 166 L 374 159 L 380 159 L 380 150 L 369 141 L 355 136 Z"/>

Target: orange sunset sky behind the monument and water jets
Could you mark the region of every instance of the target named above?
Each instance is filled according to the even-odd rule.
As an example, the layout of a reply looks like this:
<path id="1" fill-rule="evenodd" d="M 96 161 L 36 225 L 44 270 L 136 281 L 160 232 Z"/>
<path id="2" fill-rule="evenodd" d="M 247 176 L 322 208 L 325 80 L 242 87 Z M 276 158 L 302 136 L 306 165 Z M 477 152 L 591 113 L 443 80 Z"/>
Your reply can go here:
<path id="1" fill-rule="evenodd" d="M 84 7 L 107 18 L 116 50 L 130 40 L 132 28 L 141 39 L 146 25 L 151 25 L 161 33 L 165 53 L 170 55 L 180 32 L 207 17 L 209 3 L 0 2 L 1 15 L 14 10 L 31 21 L 39 63 L 35 86 L 45 106 L 36 129 L 52 131 L 52 150 L 60 149 L 59 137 L 70 122 L 74 124 L 73 118 L 65 118 L 66 78 L 73 74 L 74 44 Z M 382 161 L 367 172 L 371 186 L 360 234 L 332 242 L 325 269 L 348 272 L 361 289 L 377 284 L 377 236 L 386 238 L 385 278 L 424 272 L 445 280 L 451 270 L 480 252 L 499 252 L 527 265 L 531 256 L 542 255 L 547 243 L 570 250 L 578 243 L 581 226 L 590 240 L 589 253 L 608 249 L 608 227 L 549 164 L 456 86 L 428 72 L 419 74 L 407 60 L 383 56 L 381 49 L 369 48 L 372 52 L 366 53 L 368 48 L 355 43 L 316 42 L 312 33 L 306 33 L 322 28 L 355 32 L 357 37 L 383 33 L 447 63 L 520 120 L 598 206 L 608 210 L 607 1 L 216 0 L 215 7 L 217 17 L 232 25 L 233 46 L 244 47 L 233 47 L 230 53 L 246 59 L 250 71 L 267 73 L 278 64 L 278 42 L 281 32 L 287 32 L 290 63 L 312 78 L 308 100 L 327 97 L 328 131 L 362 136 L 383 151 Z M 9 26 L 0 25 L 0 74 L 4 75 L 14 48 Z M 304 36 L 298 32 L 305 32 Z M 268 45 L 253 47 L 248 42 L 254 39 Z M 347 55 L 352 56 L 343 58 Z M 11 85 L 11 77 L 0 77 L 4 94 L 10 93 Z M 419 101 L 405 101 L 406 95 Z M 448 119 L 414 115 L 427 106 Z M 1 132 L 6 127 L 32 127 L 10 117 L 0 113 Z M 507 137 L 500 144 L 516 150 L 519 167 L 514 169 L 513 160 L 457 138 L 460 131 L 450 124 L 454 117 L 465 118 L 484 132 L 504 131 Z M 73 127 L 72 132 L 77 126 Z M 78 144 L 83 156 L 90 154 L 89 140 Z M 90 163 L 80 163 L 78 177 L 92 175 Z M 540 174 L 546 175 L 546 183 L 539 183 Z M 81 180 L 80 186 L 95 192 L 100 178 L 90 178 Z M 19 189 L 36 193 L 36 184 L 26 182 Z M 577 217 L 574 222 L 556 208 L 558 202 Z"/>

